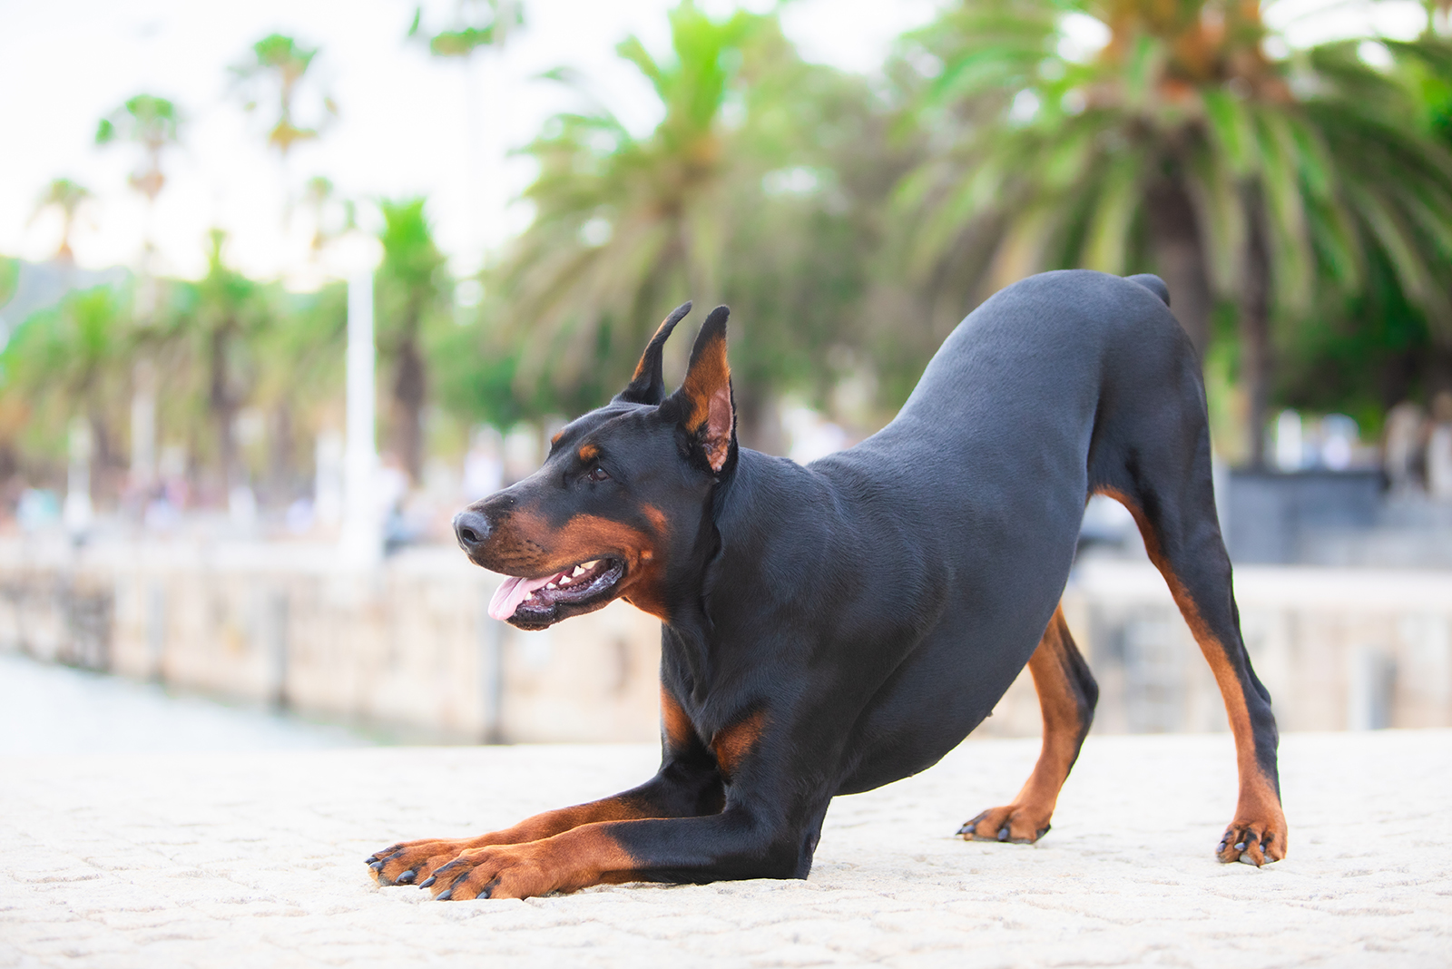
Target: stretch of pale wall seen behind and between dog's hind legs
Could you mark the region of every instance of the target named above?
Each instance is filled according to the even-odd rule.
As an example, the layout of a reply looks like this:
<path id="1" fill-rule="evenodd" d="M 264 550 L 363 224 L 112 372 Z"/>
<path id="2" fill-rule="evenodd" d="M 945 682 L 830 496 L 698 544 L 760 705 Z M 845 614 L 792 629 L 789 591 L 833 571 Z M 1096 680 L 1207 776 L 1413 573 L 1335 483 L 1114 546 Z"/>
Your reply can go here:
<path id="1" fill-rule="evenodd" d="M 1240 566 L 1240 627 L 1282 731 L 1452 727 L 1452 572 Z M 1064 615 L 1096 733 L 1228 730 L 1210 666 L 1147 561 L 1080 563 Z M 980 733 L 1038 730 L 1025 673 Z"/>

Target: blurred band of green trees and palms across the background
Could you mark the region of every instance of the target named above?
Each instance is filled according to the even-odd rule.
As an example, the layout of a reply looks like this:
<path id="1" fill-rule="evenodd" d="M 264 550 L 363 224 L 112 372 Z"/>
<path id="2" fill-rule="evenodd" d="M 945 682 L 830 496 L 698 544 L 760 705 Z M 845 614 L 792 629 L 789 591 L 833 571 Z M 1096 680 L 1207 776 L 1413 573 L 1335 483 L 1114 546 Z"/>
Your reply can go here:
<path id="1" fill-rule="evenodd" d="M 1077 49 L 1073 17 L 1108 42 Z M 460 58 L 523 22 L 507 0 L 421 19 L 409 36 Z M 1371 39 L 1379 54 L 1282 55 L 1236 0 L 958 0 L 862 77 L 803 61 L 775 13 L 682 0 L 668 49 L 617 48 L 653 91 L 650 131 L 549 74 L 579 107 L 521 148 L 533 220 L 481 273 L 450 274 L 425 199 L 370 200 L 386 450 L 420 480 L 428 448 L 462 448 L 475 424 L 598 406 L 685 299 L 732 306 L 748 444 L 781 444 L 786 397 L 870 431 L 992 290 L 1077 265 L 1166 277 L 1230 455 L 1262 453 L 1275 406 L 1375 432 L 1398 400 L 1452 389 L 1452 44 L 1430 25 Z M 317 51 L 273 35 L 251 54 L 238 70 L 273 81 L 286 157 L 315 133 L 290 99 Z M 142 147 L 134 183 L 151 199 L 177 119 L 138 96 L 97 135 Z M 356 231 L 327 178 L 303 197 L 315 251 Z M 48 205 L 74 218 L 80 199 Z M 341 426 L 344 287 L 290 294 L 224 257 L 218 234 L 200 281 L 141 276 L 19 326 L 0 355 L 0 466 L 54 470 L 76 415 L 121 461 L 147 371 L 199 482 L 303 492 L 314 440 Z M 0 263 L 0 303 L 6 279 Z M 668 348 L 668 376 L 688 345 Z M 235 440 L 244 412 L 266 447 Z"/>

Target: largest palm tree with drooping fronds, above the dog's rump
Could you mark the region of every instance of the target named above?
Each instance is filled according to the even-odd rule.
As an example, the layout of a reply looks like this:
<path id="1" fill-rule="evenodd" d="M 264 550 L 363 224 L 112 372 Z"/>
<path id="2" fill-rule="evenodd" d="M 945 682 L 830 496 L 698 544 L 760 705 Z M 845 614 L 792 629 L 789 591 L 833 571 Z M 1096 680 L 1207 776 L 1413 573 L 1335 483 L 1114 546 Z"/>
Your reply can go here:
<path id="1" fill-rule="evenodd" d="M 1064 15 L 1108 44 L 1061 51 Z M 1249 458 L 1265 454 L 1270 318 L 1385 257 L 1429 312 L 1452 251 L 1452 165 L 1400 119 L 1406 88 L 1355 44 L 1266 54 L 1252 0 L 966 0 L 912 36 L 939 145 L 905 181 L 919 268 L 960 289 L 1041 268 L 1154 268 L 1201 352 L 1215 297 L 1239 303 Z M 932 70 L 941 68 L 941 70 Z"/>

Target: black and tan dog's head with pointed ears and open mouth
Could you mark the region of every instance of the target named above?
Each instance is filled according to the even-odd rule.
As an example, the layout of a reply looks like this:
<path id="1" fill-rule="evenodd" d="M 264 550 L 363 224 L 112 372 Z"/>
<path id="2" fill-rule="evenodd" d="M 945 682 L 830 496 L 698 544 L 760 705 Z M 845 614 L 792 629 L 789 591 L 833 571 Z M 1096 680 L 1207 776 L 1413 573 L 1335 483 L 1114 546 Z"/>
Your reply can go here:
<path id="1" fill-rule="evenodd" d="M 614 400 L 555 435 L 540 470 L 454 518 L 469 558 L 510 576 L 494 618 L 543 630 L 623 598 L 669 619 L 675 586 L 704 554 L 711 490 L 736 463 L 725 306 L 665 395 L 661 352 L 690 309 L 661 323 Z"/>

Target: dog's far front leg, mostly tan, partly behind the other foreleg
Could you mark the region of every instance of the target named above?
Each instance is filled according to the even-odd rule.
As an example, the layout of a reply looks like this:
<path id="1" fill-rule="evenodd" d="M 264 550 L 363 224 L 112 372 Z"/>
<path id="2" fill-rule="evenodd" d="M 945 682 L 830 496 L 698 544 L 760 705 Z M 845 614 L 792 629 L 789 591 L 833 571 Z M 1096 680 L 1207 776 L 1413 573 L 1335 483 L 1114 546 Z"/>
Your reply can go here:
<path id="1" fill-rule="evenodd" d="M 379 885 L 430 885 L 433 875 L 460 853 L 488 846 L 524 844 L 585 824 L 635 818 L 678 818 L 722 809 L 722 780 L 714 766 L 694 757 L 668 757 L 646 783 L 600 801 L 546 811 L 514 827 L 473 838 L 402 841 L 369 856 Z"/>

